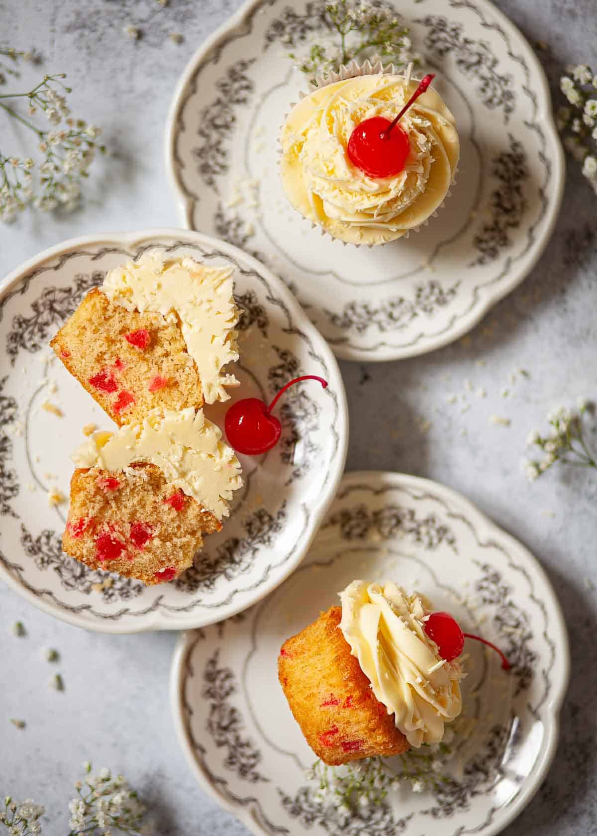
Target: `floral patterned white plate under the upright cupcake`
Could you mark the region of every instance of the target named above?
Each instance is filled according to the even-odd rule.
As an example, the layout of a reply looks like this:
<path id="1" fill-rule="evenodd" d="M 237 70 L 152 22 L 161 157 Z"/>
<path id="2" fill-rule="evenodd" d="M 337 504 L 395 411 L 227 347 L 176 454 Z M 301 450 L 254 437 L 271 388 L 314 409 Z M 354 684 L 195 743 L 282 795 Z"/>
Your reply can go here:
<path id="1" fill-rule="evenodd" d="M 299 217 L 278 177 L 278 132 L 307 87 L 288 53 L 329 43 L 329 0 L 248 0 L 196 52 L 171 110 L 167 164 L 186 225 L 258 256 L 344 359 L 424 354 L 461 337 L 537 262 L 564 161 L 543 70 L 487 0 L 395 8 L 457 117 L 446 211 L 385 247 L 343 247 Z M 418 72 L 418 70 L 417 70 Z"/>

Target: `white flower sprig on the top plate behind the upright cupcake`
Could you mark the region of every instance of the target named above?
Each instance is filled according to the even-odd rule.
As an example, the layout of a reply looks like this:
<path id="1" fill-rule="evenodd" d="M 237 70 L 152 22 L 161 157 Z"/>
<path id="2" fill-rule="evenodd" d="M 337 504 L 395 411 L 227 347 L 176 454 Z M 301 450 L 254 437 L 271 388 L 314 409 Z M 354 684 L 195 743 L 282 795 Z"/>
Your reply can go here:
<path id="1" fill-rule="evenodd" d="M 409 30 L 395 11 L 383 6 L 380 0 L 329 3 L 325 7 L 325 21 L 334 35 L 333 44 L 316 43 L 303 59 L 289 53 L 298 69 L 309 76 L 311 84 L 315 84 L 317 75 L 327 75 L 352 59 L 379 58 L 382 64 L 396 66 L 412 60 Z"/>

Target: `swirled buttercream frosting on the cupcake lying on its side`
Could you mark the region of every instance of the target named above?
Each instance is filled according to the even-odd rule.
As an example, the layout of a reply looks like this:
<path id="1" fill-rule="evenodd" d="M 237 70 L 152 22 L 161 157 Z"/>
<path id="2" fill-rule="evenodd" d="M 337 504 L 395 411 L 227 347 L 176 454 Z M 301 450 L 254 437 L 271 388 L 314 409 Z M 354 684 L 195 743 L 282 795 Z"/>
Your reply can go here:
<path id="1" fill-rule="evenodd" d="M 457 661 L 441 659 L 426 635 L 429 610 L 421 596 L 391 581 L 355 580 L 339 597 L 340 630 L 376 699 L 411 746 L 441 742 L 444 724 L 462 709 L 462 670 Z"/>

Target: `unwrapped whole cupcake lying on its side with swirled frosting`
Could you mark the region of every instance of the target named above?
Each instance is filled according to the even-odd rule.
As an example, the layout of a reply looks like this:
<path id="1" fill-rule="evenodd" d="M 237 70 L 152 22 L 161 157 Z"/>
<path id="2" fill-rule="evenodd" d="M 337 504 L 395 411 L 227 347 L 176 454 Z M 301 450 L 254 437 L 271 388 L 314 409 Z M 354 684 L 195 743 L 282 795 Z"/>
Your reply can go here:
<path id="1" fill-rule="evenodd" d="M 441 742 L 462 708 L 463 674 L 426 633 L 426 601 L 391 582 L 362 580 L 340 600 L 284 642 L 278 657 L 280 684 L 309 746 L 338 766 Z"/>

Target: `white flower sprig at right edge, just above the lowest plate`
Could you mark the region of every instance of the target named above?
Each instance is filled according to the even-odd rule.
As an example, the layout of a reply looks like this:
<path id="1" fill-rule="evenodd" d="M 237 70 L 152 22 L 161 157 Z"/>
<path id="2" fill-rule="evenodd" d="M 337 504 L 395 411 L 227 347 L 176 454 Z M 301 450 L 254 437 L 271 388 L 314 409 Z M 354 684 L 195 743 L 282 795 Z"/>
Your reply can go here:
<path id="1" fill-rule="evenodd" d="M 529 433 L 528 446 L 536 446 L 543 453 L 540 459 L 523 460 L 524 471 L 531 482 L 558 461 L 564 465 L 597 468 L 597 461 L 587 446 L 583 432 L 583 418 L 589 411 L 593 411 L 592 405 L 580 399 L 578 410 L 563 406 L 548 415 L 551 425 L 549 435 L 542 436 L 536 430 Z"/>

